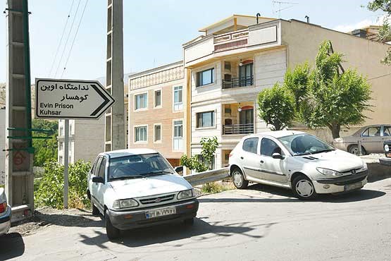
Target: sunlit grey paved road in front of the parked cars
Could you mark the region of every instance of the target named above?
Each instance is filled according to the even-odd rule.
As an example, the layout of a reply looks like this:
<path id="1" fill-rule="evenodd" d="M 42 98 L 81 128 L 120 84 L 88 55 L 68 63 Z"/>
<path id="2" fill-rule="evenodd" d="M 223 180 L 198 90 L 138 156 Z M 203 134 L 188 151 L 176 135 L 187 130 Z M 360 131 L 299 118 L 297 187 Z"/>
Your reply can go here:
<path id="1" fill-rule="evenodd" d="M 261 185 L 199 200 L 192 227 L 128 231 L 113 243 L 94 217 L 3 239 L 0 260 L 391 260 L 391 178 L 314 202 Z"/>

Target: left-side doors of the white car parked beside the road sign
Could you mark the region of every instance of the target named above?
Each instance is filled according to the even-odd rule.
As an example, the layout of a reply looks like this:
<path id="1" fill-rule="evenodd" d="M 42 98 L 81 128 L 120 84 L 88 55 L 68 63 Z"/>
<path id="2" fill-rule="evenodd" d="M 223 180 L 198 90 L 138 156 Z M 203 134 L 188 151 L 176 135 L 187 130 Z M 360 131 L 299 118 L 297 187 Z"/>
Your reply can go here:
<path id="1" fill-rule="evenodd" d="M 94 176 L 99 176 L 104 179 L 104 183 L 92 183 L 92 198 L 94 204 L 99 208 L 101 213 L 104 212 L 104 190 L 106 190 L 106 157 L 100 157 L 97 167 L 94 171 Z"/>

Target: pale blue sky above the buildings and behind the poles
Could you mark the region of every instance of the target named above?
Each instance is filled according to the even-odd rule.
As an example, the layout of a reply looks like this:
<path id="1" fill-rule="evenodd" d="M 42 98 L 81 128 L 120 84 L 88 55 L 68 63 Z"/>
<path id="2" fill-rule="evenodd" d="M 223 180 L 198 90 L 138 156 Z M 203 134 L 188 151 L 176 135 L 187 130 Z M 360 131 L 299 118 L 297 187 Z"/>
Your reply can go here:
<path id="1" fill-rule="evenodd" d="M 5 2 L 1 1 L 1 11 L 6 8 Z M 285 20 L 292 18 L 306 20 L 304 16 L 309 16 L 311 23 L 342 32 L 378 24 L 379 18 L 383 15 L 380 12 L 368 11 L 365 7 L 368 0 L 286 0 L 285 2 L 297 4 L 273 4 L 272 0 L 123 0 L 124 73 L 140 72 L 180 61 L 182 44 L 200 35 L 199 28 L 234 13 L 253 16 L 261 13 L 261 16 Z M 32 12 L 30 15 L 32 83 L 35 82 L 35 78 L 92 80 L 104 77 L 106 4 L 106 0 L 29 1 L 29 10 Z M 71 6 L 72 11 L 70 11 Z M 77 6 L 79 8 L 76 13 Z M 84 8 L 85 13 L 80 22 Z M 275 12 L 280 8 L 285 10 L 280 13 Z M 0 19 L 2 20 L 0 83 L 4 83 L 6 81 L 6 15 L 3 14 Z M 79 22 L 80 27 L 70 51 Z M 73 28 L 70 30 L 72 23 Z M 67 25 L 66 30 L 63 31 L 65 25 Z M 65 32 L 63 41 L 59 45 L 63 32 Z M 63 70 L 67 59 L 66 70 Z"/>

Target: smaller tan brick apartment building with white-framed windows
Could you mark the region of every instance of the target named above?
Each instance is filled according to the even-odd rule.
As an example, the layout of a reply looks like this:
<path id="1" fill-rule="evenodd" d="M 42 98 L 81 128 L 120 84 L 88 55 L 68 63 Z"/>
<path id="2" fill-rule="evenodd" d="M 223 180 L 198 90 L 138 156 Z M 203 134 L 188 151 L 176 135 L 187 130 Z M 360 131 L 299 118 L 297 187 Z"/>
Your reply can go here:
<path id="1" fill-rule="evenodd" d="M 157 150 L 178 166 L 186 148 L 185 94 L 183 61 L 130 75 L 129 147 Z"/>

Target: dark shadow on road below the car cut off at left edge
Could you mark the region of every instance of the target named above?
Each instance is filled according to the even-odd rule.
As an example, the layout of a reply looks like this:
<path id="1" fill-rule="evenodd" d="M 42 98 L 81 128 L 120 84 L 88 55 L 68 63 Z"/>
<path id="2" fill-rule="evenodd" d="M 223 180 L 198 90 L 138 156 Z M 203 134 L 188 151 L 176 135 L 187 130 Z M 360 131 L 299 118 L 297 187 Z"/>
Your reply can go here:
<path id="1" fill-rule="evenodd" d="M 25 253 L 25 242 L 20 233 L 6 233 L 0 236 L 0 260 L 20 257 Z"/>

